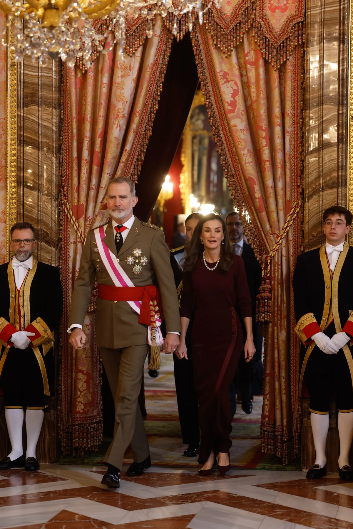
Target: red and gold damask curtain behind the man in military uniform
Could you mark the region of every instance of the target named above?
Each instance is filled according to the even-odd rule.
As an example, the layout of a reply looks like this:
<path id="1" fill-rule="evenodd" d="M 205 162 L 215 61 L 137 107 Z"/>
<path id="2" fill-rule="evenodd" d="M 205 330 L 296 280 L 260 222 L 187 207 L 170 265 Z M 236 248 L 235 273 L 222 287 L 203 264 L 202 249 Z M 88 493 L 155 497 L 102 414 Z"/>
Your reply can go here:
<path id="1" fill-rule="evenodd" d="M 105 42 L 109 50 L 110 36 Z M 63 67 L 63 191 L 61 278 L 65 292 L 61 332 L 60 435 L 64 453 L 94 450 L 102 440 L 99 354 L 90 307 L 80 351 L 68 344 L 70 296 L 87 231 L 105 221 L 101 209 L 110 178 L 137 178 L 151 134 L 171 45 L 160 20 L 153 37 L 125 59 L 117 47 L 101 53 L 85 73 Z"/>

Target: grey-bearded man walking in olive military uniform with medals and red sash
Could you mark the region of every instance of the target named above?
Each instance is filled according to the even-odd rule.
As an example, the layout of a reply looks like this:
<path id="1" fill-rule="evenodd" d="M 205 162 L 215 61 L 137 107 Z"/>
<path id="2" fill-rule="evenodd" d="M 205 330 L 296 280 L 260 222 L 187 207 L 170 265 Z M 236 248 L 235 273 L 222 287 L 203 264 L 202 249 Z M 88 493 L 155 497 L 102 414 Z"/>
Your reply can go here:
<path id="1" fill-rule="evenodd" d="M 123 455 L 129 445 L 134 455 L 129 476 L 140 475 L 151 466 L 137 403 L 143 367 L 148 342 L 152 343 L 152 356 L 156 350 L 158 332 L 154 333 L 153 328 L 162 310 L 167 331 L 162 352 L 177 349 L 180 318 L 169 249 L 160 229 L 134 217 L 137 197 L 133 182 L 114 178 L 105 199 L 112 221 L 87 234 L 68 332 L 70 343 L 81 349 L 86 340 L 82 326 L 96 279 L 96 340 L 116 406 L 114 439 L 104 457 L 108 471 L 102 484 L 119 487 Z M 155 278 L 160 291 L 154 286 Z"/>

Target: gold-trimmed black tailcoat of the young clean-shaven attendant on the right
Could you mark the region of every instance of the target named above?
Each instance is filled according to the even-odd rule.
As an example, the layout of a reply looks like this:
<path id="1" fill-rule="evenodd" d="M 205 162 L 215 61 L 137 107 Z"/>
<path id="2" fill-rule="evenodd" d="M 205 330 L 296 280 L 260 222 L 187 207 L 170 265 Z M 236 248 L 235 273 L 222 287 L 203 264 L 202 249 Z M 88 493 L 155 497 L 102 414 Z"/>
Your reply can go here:
<path id="1" fill-rule="evenodd" d="M 353 248 L 347 242 L 331 272 L 325 245 L 297 257 L 293 275 L 295 332 L 302 342 L 299 391 L 307 360 L 315 342 L 311 336 L 324 332 L 329 338 L 340 331 L 353 336 Z M 353 383 L 353 348 L 343 348 Z"/>

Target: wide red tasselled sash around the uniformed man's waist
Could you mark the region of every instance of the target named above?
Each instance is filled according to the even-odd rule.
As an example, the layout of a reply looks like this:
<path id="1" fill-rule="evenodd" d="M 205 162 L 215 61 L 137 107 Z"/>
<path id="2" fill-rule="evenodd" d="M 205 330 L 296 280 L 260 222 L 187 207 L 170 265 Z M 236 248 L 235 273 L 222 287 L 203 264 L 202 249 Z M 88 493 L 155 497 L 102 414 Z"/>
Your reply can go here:
<path id="1" fill-rule="evenodd" d="M 116 287 L 113 285 L 98 285 L 98 297 L 109 301 L 140 301 L 139 323 L 151 325 L 151 309 L 149 302 L 156 301 L 163 320 L 163 309 L 160 291 L 154 285 L 146 287 Z"/>

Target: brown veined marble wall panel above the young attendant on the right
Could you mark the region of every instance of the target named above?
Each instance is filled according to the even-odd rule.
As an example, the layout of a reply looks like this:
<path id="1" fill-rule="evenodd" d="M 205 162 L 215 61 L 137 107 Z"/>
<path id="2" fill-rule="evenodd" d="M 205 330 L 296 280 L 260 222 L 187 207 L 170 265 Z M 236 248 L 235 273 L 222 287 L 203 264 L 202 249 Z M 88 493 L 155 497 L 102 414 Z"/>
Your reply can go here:
<path id="1" fill-rule="evenodd" d="M 304 249 L 322 242 L 326 207 L 347 207 L 347 0 L 307 0 Z"/>

